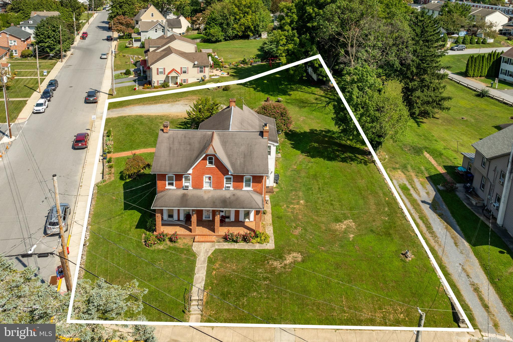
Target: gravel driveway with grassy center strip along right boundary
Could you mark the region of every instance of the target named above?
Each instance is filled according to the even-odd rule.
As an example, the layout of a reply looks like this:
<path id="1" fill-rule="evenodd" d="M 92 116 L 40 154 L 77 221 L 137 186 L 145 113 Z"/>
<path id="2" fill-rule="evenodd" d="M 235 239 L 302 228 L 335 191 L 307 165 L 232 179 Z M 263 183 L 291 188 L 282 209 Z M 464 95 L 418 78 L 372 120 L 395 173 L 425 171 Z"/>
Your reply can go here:
<path id="1" fill-rule="evenodd" d="M 473 254 L 437 189 L 431 183 L 425 189 L 417 179 L 415 179 L 415 185 L 410 185 L 406 179 L 394 179 L 393 182 L 410 213 L 417 216 L 417 223 L 423 230 L 424 235 L 430 240 L 431 245 L 436 247 L 442 262 L 476 317 L 479 329 L 483 332 L 513 336 L 513 320 L 511 320 L 499 296 L 489 284 L 479 261 Z M 400 183 L 408 186 L 411 195 L 423 209 L 422 214 L 425 214 L 428 218 L 432 231 L 427 229 L 422 220 L 419 219 L 418 213 L 399 188 Z M 485 294 L 488 293 L 488 289 L 490 315 L 487 314 L 487 310 L 480 300 L 480 296 L 485 298 L 484 300 L 487 299 Z M 479 295 L 475 291 L 479 291 Z"/>

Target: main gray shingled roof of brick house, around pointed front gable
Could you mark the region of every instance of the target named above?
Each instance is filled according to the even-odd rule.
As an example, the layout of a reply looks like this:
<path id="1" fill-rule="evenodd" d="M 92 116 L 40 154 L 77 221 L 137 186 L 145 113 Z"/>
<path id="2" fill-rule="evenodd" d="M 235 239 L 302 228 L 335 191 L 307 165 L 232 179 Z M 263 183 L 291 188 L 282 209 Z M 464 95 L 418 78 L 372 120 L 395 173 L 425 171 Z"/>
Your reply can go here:
<path id="1" fill-rule="evenodd" d="M 232 174 L 269 172 L 267 139 L 261 132 L 170 129 L 159 131 L 151 173 L 187 173 L 212 148 Z"/>

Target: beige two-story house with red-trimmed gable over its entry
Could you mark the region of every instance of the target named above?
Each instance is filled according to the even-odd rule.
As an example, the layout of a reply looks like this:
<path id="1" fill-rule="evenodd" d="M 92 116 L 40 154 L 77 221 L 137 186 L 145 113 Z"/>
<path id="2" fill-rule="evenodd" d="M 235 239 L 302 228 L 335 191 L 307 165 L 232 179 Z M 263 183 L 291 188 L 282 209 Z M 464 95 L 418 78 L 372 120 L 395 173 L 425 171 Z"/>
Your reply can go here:
<path id="1" fill-rule="evenodd" d="M 146 39 L 146 59 L 141 61 L 141 72 L 146 73 L 153 86 L 165 82 L 170 85 L 204 81 L 209 78 L 210 61 L 206 52 L 191 39 L 172 34 L 156 39 Z"/>

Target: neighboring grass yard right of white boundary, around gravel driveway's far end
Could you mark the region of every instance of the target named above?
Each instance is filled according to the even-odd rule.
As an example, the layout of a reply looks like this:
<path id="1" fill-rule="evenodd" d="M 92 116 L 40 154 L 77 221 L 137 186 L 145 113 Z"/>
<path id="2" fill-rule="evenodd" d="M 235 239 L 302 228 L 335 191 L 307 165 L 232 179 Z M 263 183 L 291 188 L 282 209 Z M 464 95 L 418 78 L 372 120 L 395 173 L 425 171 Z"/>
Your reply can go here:
<path id="1" fill-rule="evenodd" d="M 397 142 L 387 140 L 381 151 L 383 166 L 393 175 L 396 172 L 407 178 L 415 175 L 429 177 L 435 184 L 444 181 L 443 176 L 423 155 L 429 153 L 436 162 L 458 183 L 463 180 L 454 169 L 461 166 L 461 152 L 474 152 L 470 144 L 497 132 L 499 124 L 510 122 L 513 109 L 490 98 L 478 98 L 471 90 L 451 81 L 445 81 L 446 94 L 452 96 L 448 105 L 451 109 L 439 113 L 438 117 L 411 123 L 407 133 Z M 461 119 L 465 117 L 466 119 Z M 456 142 L 459 142 L 459 152 Z M 488 268 L 488 227 L 482 223 L 477 231 L 479 218 L 474 215 L 456 196 L 441 191 L 441 196 L 463 231 L 473 253 L 483 270 Z M 471 240 L 476 235 L 473 243 Z M 513 314 L 513 252 L 491 231 L 490 276 L 489 280 L 502 299 L 506 309 Z M 485 271 L 486 273 L 486 271 Z"/>

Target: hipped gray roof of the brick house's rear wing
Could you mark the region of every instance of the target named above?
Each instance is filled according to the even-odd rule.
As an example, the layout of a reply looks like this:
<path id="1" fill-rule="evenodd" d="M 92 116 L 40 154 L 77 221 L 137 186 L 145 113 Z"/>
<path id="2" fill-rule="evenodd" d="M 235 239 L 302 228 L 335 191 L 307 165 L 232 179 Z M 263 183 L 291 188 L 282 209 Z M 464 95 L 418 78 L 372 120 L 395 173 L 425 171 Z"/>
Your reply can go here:
<path id="1" fill-rule="evenodd" d="M 236 106 L 226 107 L 202 122 L 199 128 L 213 131 L 260 132 L 264 123 L 269 126 L 269 142 L 278 144 L 275 120 L 255 113 L 246 105 L 243 105 L 242 109 Z"/>

